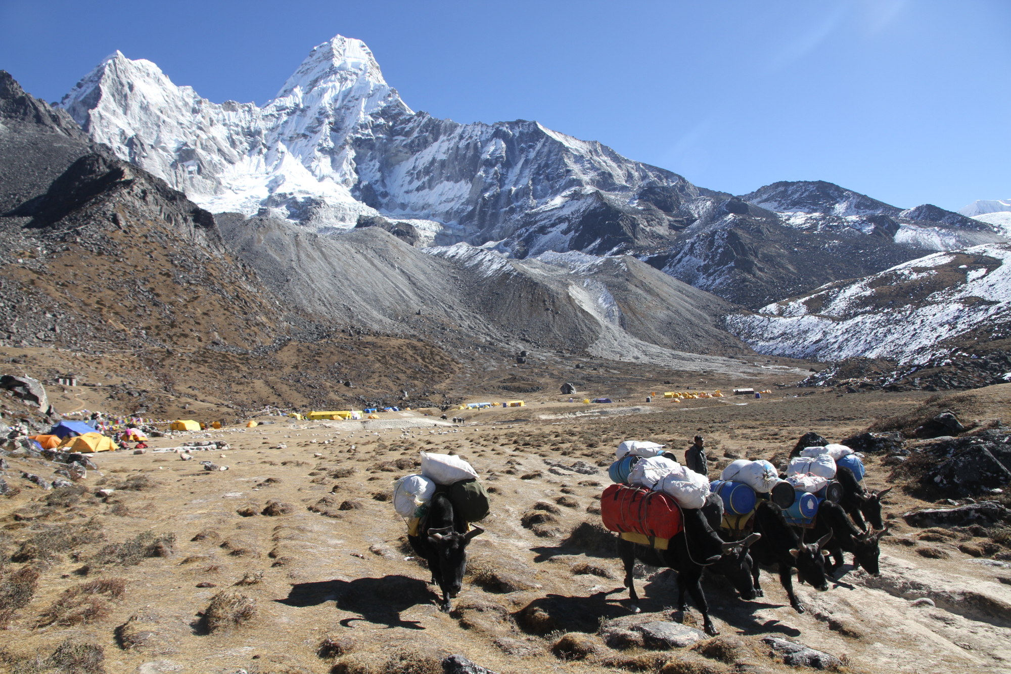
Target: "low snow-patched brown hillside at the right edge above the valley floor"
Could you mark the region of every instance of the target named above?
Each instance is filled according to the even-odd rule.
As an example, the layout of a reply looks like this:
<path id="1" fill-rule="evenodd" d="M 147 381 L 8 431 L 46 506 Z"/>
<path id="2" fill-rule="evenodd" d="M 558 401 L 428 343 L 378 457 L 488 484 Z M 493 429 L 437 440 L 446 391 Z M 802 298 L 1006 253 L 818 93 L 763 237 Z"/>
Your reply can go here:
<path id="1" fill-rule="evenodd" d="M 946 339 L 1011 321 L 1009 263 L 1007 243 L 935 253 L 726 323 L 762 353 L 926 362 Z"/>

